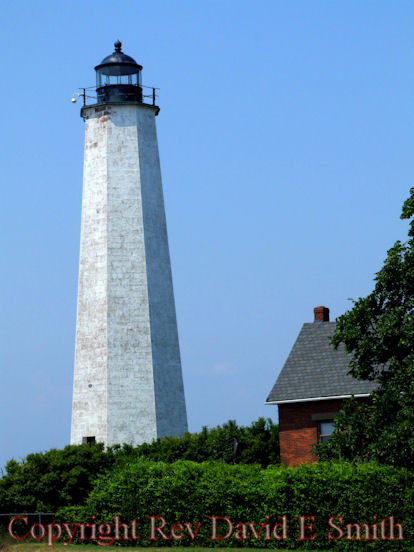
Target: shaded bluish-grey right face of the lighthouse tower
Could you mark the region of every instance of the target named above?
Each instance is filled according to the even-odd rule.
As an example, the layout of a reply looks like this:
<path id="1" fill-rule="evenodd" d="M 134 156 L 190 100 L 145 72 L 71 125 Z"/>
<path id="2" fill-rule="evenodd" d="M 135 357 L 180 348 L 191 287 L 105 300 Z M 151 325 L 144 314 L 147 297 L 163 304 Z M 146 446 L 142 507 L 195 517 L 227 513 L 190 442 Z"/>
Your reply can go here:
<path id="1" fill-rule="evenodd" d="M 179 436 L 188 428 L 158 140 L 154 112 L 137 114 L 157 436 Z"/>

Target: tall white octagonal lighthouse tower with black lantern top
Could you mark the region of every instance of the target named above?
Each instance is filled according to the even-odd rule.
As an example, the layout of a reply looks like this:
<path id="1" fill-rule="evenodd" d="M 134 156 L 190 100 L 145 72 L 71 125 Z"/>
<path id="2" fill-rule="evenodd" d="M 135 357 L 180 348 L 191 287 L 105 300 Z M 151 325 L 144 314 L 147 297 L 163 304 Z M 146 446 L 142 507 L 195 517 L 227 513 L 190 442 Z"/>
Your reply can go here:
<path id="1" fill-rule="evenodd" d="M 71 443 L 151 442 L 187 431 L 155 116 L 142 66 L 95 67 L 85 158 Z"/>

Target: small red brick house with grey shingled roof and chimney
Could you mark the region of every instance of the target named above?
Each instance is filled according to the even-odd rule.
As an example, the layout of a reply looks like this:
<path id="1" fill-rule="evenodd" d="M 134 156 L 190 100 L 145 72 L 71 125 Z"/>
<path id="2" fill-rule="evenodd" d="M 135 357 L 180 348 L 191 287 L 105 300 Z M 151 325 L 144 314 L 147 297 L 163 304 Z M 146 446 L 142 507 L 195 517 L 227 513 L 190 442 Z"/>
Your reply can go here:
<path id="1" fill-rule="evenodd" d="M 329 309 L 315 307 L 314 322 L 303 325 L 266 400 L 279 409 L 280 457 L 287 466 L 316 461 L 312 445 L 329 439 L 344 399 L 363 399 L 375 388 L 348 374 L 344 345 L 335 350 L 330 343 L 334 331 Z"/>

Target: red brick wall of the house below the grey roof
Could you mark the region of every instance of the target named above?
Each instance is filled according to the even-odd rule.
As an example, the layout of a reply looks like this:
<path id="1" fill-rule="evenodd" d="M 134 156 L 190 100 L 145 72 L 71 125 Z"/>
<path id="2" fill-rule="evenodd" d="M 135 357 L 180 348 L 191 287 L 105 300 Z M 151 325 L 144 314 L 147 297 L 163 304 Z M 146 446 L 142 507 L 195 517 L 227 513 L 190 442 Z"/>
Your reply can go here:
<path id="1" fill-rule="evenodd" d="M 318 422 L 312 415 L 337 413 L 341 399 L 279 404 L 280 459 L 287 466 L 316 462 L 312 445 L 318 439 Z"/>

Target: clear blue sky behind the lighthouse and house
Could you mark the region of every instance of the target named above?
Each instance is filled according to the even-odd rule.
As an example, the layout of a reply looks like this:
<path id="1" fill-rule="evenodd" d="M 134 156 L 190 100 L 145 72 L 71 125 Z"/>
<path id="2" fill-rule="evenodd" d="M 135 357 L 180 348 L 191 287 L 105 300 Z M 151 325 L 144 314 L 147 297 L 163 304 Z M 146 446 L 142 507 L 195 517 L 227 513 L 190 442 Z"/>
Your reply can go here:
<path id="1" fill-rule="evenodd" d="M 189 427 L 265 406 L 303 322 L 406 237 L 414 5 L 2 1 L 0 466 L 69 442 L 83 121 L 119 38 L 157 86 Z"/>

